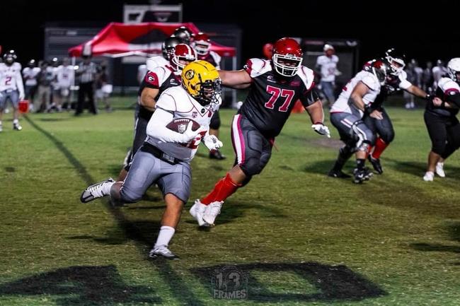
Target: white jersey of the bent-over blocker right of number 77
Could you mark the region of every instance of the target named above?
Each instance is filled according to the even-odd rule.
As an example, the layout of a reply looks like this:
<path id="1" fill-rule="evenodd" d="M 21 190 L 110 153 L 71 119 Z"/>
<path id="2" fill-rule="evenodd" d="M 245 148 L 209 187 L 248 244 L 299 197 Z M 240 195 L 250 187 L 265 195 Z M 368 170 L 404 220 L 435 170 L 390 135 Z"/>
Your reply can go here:
<path id="1" fill-rule="evenodd" d="M 364 105 L 371 105 L 380 93 L 380 82 L 373 73 L 360 71 L 347 83 L 347 85 L 343 86 L 342 93 L 340 93 L 338 99 L 330 108 L 330 112 L 348 112 L 351 114 L 352 111 L 350 106 L 353 104 L 353 101 L 350 99 L 350 95 L 353 89 L 355 89 L 355 86 L 360 82 L 364 83 L 364 85 L 369 88 L 364 97 L 362 97 Z"/>

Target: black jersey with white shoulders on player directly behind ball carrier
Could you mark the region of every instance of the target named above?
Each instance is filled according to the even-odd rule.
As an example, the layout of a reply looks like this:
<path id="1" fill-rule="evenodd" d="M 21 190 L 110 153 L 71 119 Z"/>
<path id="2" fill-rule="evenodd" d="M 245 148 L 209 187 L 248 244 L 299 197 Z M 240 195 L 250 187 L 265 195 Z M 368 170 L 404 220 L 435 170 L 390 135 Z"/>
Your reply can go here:
<path id="1" fill-rule="evenodd" d="M 179 86 L 180 83 L 180 74 L 176 75 L 175 71 L 173 71 L 173 69 L 170 66 L 159 66 L 154 68 L 154 70 L 152 71 L 147 71 L 147 73 L 144 76 L 144 79 L 142 80 L 141 85 L 139 86 L 137 97 L 138 99 L 140 99 L 142 90 L 144 90 L 144 88 L 147 87 L 158 88 L 159 93 L 158 95 L 156 95 L 156 97 L 158 98 L 161 95 L 161 93 L 163 93 L 163 91 L 166 90 L 166 88 Z M 153 113 L 154 112 L 151 112 L 150 110 L 147 110 L 145 107 L 140 105 L 139 117 L 149 120 L 151 114 Z"/>

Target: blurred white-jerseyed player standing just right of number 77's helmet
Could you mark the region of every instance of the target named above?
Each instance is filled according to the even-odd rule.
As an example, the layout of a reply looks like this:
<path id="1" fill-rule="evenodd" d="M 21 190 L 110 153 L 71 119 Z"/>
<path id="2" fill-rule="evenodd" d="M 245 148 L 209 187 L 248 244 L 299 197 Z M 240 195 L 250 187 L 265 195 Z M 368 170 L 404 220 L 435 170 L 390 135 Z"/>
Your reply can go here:
<path id="1" fill-rule="evenodd" d="M 321 76 L 320 87 L 328 100 L 329 107 L 335 102 L 335 76 L 338 75 L 338 56 L 332 45 L 324 45 L 324 55 L 316 59 L 316 71 Z"/>

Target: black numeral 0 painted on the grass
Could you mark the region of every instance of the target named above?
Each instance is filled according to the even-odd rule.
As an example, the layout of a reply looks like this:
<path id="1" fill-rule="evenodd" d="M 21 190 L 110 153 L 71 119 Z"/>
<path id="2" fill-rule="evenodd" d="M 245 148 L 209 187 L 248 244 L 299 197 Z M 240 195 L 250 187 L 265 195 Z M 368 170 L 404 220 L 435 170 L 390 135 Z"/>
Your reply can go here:
<path id="1" fill-rule="evenodd" d="M 347 266 L 330 266 L 316 262 L 219 265 L 191 271 L 200 278 L 204 286 L 211 290 L 213 297 L 218 296 L 219 291 L 231 294 L 235 290 L 246 288 L 246 298 L 255 302 L 332 302 L 364 300 L 387 294 L 379 286 L 351 271 Z M 292 287 L 289 281 L 292 280 L 280 278 L 277 279 L 277 283 L 273 283 L 271 279 L 273 272 L 292 273 L 293 276 L 303 278 L 310 286 L 304 288 L 304 293 L 299 293 L 302 288 L 289 293 Z M 261 278 L 255 276 L 255 274 L 263 276 L 264 273 L 268 283 L 271 286 L 275 285 L 277 292 L 270 290 L 263 281 L 260 281 Z M 238 281 L 237 286 L 236 281 Z M 314 292 L 311 287 L 314 287 Z"/>

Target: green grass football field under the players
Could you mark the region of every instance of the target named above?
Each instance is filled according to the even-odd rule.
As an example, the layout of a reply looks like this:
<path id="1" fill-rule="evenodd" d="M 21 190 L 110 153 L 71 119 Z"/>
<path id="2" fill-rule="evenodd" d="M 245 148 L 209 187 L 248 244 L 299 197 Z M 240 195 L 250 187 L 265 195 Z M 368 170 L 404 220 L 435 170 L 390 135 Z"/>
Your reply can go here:
<path id="1" fill-rule="evenodd" d="M 128 100 L 98 116 L 28 114 L 20 132 L 4 118 L 0 305 L 460 305 L 459 153 L 446 178 L 423 182 L 422 110 L 389 108 L 396 139 L 384 175 L 362 185 L 326 176 L 340 146 L 333 126 L 324 139 L 306 114 L 292 114 L 263 173 L 226 201 L 215 228 L 199 230 L 188 208 L 233 163 L 234 111 L 223 110 L 229 158 L 209 160 L 202 146 L 192 162 L 192 195 L 171 244 L 181 259 L 151 261 L 158 190 L 122 208 L 79 201 L 88 184 L 120 170 L 132 141 Z M 219 277 L 227 288 L 240 281 L 246 299 L 214 298 Z"/>

